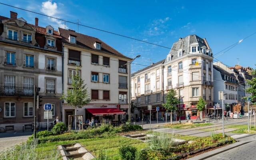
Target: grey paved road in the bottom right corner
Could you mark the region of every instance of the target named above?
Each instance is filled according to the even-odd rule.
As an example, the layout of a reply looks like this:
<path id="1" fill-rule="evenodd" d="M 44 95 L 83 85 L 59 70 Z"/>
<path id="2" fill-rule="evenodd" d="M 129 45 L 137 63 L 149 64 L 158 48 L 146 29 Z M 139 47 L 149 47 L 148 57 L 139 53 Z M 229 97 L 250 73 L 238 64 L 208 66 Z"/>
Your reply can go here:
<path id="1" fill-rule="evenodd" d="M 256 160 L 256 141 L 227 150 L 206 160 Z"/>

